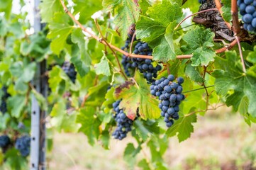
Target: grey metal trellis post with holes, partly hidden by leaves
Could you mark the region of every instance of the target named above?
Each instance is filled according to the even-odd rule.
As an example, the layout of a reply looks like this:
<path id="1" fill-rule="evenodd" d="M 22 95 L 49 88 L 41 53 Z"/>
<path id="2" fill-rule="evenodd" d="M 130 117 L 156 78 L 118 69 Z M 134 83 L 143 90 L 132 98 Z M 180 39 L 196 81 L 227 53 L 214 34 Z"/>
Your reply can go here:
<path id="1" fill-rule="evenodd" d="M 39 14 L 40 0 L 34 0 L 34 30 L 38 33 L 42 29 Z M 46 61 L 37 64 L 37 71 L 33 79 L 33 86 L 38 93 L 47 96 L 48 80 L 42 77 L 46 71 Z M 45 156 L 46 156 L 46 132 L 45 132 L 45 115 L 46 112 L 40 110 L 40 106 L 35 96 L 32 96 L 32 114 L 31 114 L 31 144 L 30 144 L 30 170 L 45 170 Z"/>

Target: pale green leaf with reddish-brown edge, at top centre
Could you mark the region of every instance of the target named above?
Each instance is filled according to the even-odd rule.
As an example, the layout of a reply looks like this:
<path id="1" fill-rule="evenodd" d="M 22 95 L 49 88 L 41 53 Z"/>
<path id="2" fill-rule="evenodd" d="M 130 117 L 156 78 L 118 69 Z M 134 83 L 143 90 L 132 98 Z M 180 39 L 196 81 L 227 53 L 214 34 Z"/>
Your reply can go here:
<path id="1" fill-rule="evenodd" d="M 123 40 L 127 38 L 128 28 L 138 21 L 140 7 L 133 0 L 104 0 L 102 6 L 108 11 L 116 13 L 114 23 L 120 30 Z"/>

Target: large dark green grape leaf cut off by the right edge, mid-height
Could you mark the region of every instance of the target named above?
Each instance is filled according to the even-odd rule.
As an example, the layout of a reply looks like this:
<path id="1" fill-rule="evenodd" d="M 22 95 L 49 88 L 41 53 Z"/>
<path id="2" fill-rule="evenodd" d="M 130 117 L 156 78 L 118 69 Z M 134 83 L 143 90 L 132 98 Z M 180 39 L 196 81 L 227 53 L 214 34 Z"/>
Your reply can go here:
<path id="1" fill-rule="evenodd" d="M 243 73 L 236 52 L 226 52 L 226 59 L 216 57 L 216 66 L 216 70 L 212 73 L 216 78 L 216 93 L 226 96 L 227 106 L 233 106 L 235 111 L 240 110 L 245 113 L 244 110 L 247 110 L 252 117 L 256 117 L 255 72 L 249 69 L 246 74 Z"/>

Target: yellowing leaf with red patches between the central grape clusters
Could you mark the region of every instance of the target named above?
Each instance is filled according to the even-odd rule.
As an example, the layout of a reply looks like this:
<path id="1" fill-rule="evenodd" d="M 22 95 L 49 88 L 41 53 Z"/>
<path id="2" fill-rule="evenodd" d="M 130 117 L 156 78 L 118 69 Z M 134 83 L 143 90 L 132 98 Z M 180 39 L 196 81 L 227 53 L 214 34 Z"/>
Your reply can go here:
<path id="1" fill-rule="evenodd" d="M 138 86 L 128 82 L 116 89 L 114 94 L 116 99 L 122 99 L 119 107 L 123 108 L 124 113 L 132 120 L 137 115 L 137 108 L 139 108 L 139 114 L 143 119 L 159 118 L 158 101 L 150 94 L 150 88 L 143 75 L 136 72 L 135 81 Z"/>

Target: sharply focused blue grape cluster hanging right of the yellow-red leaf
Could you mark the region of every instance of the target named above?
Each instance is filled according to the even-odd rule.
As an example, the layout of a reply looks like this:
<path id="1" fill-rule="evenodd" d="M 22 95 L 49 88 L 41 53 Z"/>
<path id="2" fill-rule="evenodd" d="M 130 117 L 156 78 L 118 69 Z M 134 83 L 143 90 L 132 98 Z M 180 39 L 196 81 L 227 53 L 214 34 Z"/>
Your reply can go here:
<path id="1" fill-rule="evenodd" d="M 182 94 L 182 77 L 177 78 L 174 82 L 174 76 L 169 74 L 168 77 L 157 79 L 155 84 L 150 86 L 150 93 L 160 99 L 159 108 L 162 117 L 165 117 L 167 128 L 174 124 L 174 120 L 179 119 L 179 104 L 184 100 Z"/>

